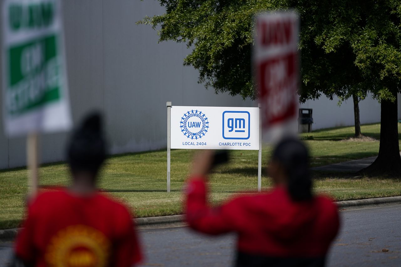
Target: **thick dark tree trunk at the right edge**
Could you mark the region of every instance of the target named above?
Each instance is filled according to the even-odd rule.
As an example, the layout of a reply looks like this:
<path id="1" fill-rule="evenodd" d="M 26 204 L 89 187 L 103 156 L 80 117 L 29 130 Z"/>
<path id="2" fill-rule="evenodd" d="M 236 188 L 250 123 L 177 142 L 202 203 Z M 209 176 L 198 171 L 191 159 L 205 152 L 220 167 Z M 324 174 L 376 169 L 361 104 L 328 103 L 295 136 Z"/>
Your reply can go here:
<path id="1" fill-rule="evenodd" d="M 362 173 L 401 176 L 397 116 L 397 95 L 395 102 L 382 100 L 379 155 Z"/>

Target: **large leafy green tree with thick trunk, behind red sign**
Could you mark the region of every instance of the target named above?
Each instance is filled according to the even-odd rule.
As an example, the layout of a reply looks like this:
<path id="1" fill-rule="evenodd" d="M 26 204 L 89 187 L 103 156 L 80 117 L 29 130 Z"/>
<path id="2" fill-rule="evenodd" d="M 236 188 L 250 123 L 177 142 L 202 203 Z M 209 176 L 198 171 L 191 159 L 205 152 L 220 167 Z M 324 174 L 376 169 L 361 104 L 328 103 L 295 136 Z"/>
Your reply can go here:
<path id="1" fill-rule="evenodd" d="M 379 156 L 367 171 L 401 173 L 397 93 L 401 89 L 399 0 L 159 0 L 166 13 L 140 23 L 159 28 L 160 41 L 184 42 L 185 65 L 218 92 L 255 99 L 253 16 L 294 8 L 300 14 L 300 101 L 322 94 L 341 100 L 370 92 L 381 102 Z"/>

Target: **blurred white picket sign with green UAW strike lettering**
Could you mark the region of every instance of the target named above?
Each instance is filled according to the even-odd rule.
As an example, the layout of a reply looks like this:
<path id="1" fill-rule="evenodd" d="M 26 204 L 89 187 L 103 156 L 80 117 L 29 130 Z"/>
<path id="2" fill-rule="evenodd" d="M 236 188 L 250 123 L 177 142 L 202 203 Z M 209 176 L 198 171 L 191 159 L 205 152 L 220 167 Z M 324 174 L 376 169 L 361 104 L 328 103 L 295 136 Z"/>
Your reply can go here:
<path id="1" fill-rule="evenodd" d="M 5 0 L 3 118 L 9 136 L 71 126 L 59 0 Z"/>

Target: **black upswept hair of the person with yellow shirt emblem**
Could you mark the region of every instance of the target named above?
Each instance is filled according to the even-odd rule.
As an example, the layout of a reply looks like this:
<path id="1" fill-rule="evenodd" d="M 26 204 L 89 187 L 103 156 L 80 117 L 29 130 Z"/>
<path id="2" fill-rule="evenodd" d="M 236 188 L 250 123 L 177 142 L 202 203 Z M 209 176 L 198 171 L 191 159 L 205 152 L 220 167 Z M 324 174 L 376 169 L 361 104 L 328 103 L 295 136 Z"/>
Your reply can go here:
<path id="1" fill-rule="evenodd" d="M 89 172 L 96 176 L 105 159 L 101 115 L 93 112 L 73 132 L 67 145 L 67 160 L 73 173 Z"/>

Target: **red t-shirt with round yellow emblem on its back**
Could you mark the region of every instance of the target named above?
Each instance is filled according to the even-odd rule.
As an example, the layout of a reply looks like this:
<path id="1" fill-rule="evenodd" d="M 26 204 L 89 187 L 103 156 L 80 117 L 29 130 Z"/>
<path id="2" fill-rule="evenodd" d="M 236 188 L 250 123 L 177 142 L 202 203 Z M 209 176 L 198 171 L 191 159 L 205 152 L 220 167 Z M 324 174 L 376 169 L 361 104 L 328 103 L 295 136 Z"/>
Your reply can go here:
<path id="1" fill-rule="evenodd" d="M 132 266 L 142 259 L 132 217 L 100 193 L 41 193 L 28 207 L 16 255 L 34 266 Z"/>

